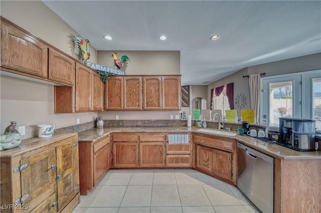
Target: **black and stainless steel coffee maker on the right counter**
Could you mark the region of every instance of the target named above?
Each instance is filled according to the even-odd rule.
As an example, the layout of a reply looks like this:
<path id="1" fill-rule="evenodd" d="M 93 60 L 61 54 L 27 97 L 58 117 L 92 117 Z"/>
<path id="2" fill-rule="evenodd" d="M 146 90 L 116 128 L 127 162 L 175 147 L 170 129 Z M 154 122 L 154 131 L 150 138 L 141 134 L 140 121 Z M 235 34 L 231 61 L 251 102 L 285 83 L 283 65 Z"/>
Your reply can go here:
<path id="1" fill-rule="evenodd" d="M 279 118 L 277 144 L 297 151 L 314 151 L 315 120 L 303 118 Z"/>

